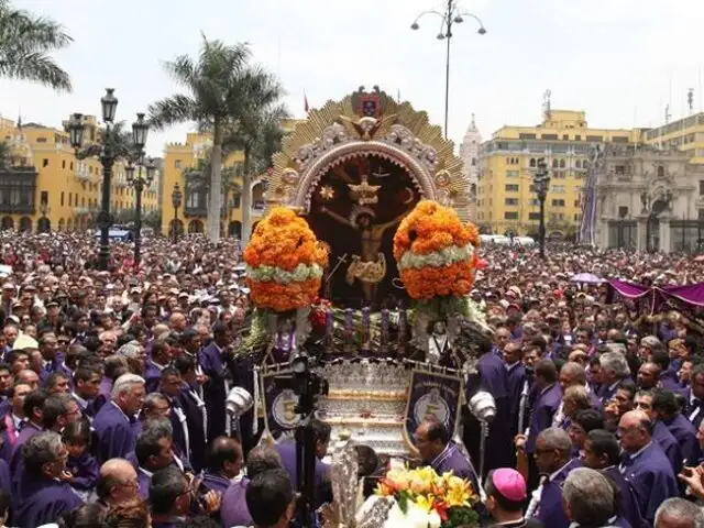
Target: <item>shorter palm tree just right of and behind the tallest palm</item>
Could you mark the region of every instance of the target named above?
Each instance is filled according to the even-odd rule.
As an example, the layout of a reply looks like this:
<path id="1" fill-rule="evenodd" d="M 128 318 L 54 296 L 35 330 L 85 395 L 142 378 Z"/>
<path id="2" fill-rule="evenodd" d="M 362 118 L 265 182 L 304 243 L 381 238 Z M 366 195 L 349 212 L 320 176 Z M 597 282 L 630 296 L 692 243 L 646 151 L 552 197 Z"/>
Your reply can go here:
<path id="1" fill-rule="evenodd" d="M 242 172 L 242 245 L 250 240 L 252 228 L 252 177 L 272 165 L 272 156 L 280 150 L 284 132 L 282 120 L 289 117 L 280 98 L 284 89 L 278 80 L 262 68 L 251 68 L 242 78 L 245 112 L 228 129 L 226 145 L 241 150 Z"/>

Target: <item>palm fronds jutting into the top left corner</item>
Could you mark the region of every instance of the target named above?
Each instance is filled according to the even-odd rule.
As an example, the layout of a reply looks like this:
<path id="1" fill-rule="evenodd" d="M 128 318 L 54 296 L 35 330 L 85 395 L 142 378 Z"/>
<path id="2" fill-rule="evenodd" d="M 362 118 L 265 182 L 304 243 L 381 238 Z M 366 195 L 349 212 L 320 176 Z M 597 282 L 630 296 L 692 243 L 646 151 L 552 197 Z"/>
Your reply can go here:
<path id="1" fill-rule="evenodd" d="M 0 77 L 70 91 L 68 74 L 48 54 L 72 42 L 61 24 L 0 0 Z"/>

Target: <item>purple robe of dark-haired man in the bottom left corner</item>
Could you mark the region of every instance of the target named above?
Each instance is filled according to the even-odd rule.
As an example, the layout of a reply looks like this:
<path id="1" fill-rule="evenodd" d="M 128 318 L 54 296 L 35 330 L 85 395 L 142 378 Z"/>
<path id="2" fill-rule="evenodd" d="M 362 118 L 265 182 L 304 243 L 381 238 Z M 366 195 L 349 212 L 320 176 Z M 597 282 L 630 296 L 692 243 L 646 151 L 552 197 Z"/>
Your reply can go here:
<path id="1" fill-rule="evenodd" d="M 20 491 L 12 497 L 13 525 L 35 528 L 55 522 L 65 512 L 82 506 L 84 502 L 68 484 L 25 474 Z"/>

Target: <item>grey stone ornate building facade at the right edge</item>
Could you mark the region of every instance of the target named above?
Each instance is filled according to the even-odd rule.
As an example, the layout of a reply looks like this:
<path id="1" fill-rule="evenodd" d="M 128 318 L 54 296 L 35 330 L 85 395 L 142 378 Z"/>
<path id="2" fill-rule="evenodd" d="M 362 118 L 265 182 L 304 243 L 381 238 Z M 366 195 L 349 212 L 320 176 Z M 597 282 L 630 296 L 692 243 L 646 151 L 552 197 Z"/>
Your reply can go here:
<path id="1" fill-rule="evenodd" d="M 597 246 L 669 253 L 701 245 L 704 166 L 645 145 L 605 145 L 596 160 Z"/>

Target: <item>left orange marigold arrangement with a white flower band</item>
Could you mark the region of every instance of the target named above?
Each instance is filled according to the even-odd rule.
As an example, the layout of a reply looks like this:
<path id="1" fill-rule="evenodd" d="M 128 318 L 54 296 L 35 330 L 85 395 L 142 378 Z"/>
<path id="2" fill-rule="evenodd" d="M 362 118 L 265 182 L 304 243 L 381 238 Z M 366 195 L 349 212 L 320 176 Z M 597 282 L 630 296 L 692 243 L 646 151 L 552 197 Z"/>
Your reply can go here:
<path id="1" fill-rule="evenodd" d="M 244 250 L 244 262 L 254 305 L 282 312 L 306 308 L 316 300 L 328 251 L 306 220 L 277 207 L 257 223 Z"/>

